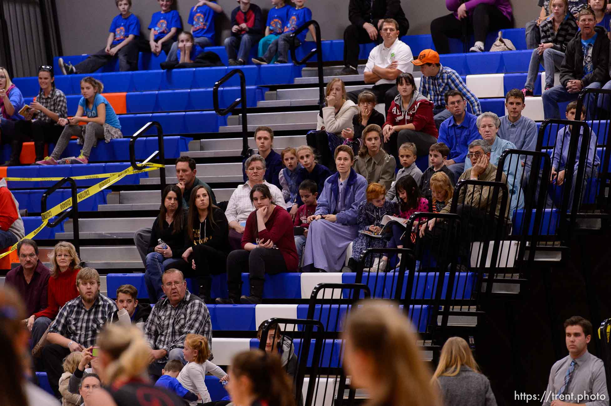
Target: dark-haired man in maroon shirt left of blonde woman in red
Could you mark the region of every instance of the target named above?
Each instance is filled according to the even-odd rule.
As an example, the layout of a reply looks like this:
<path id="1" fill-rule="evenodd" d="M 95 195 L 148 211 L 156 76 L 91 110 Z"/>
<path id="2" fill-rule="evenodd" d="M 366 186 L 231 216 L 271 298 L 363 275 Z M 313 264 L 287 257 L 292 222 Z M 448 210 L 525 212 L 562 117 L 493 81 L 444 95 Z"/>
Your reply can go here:
<path id="1" fill-rule="evenodd" d="M 17 255 L 21 265 L 6 274 L 4 283 L 19 292 L 29 318 L 46 308 L 50 273 L 49 268 L 38 259 L 38 244 L 34 240 L 19 241 Z"/>

